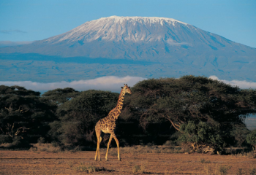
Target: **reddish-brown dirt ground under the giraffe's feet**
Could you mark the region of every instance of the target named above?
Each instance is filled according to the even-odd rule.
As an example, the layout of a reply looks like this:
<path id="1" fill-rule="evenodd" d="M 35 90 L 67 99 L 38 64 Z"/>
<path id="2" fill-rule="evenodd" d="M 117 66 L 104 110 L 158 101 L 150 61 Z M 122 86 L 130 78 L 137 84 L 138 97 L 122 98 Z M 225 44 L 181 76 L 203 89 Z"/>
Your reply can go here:
<path id="1" fill-rule="evenodd" d="M 249 174 L 256 168 L 255 158 L 233 155 L 121 153 L 121 161 L 113 154 L 105 161 L 103 150 L 102 160 L 95 161 L 94 154 L 91 151 L 50 153 L 0 150 L 0 174 L 88 174 L 79 171 L 78 166 L 99 168 L 100 171 L 91 174 L 218 174 L 220 167 L 226 167 L 227 174 L 238 174 L 239 168 Z M 144 166 L 144 173 L 134 173 L 135 166 Z"/>

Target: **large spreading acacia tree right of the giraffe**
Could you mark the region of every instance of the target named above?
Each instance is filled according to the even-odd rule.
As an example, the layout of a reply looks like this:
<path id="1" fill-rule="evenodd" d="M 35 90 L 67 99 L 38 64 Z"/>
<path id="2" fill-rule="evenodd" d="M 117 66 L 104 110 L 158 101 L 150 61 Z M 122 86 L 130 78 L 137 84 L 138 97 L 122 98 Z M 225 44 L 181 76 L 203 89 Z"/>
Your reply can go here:
<path id="1" fill-rule="evenodd" d="M 207 77 L 143 80 L 132 88 L 132 93 L 128 107 L 132 114 L 137 115 L 145 131 L 150 123 L 165 121 L 170 122 L 181 135 L 192 134 L 186 133 L 184 129 L 189 127 L 189 121 L 194 123 L 196 130 L 202 127 L 208 128 L 208 131 L 220 129 L 219 135 L 215 131 L 211 132 L 212 136 L 221 137 L 218 144 L 208 139 L 192 140 L 190 136 L 186 137 L 187 140 L 181 139 L 191 145 L 194 151 L 197 150 L 194 147 L 197 144 L 197 148 L 206 144 L 214 149 L 233 144 L 231 131 L 234 125 L 244 125 L 244 117 L 256 109 L 255 90 L 241 90 Z M 198 132 L 196 135 L 200 137 Z"/>

